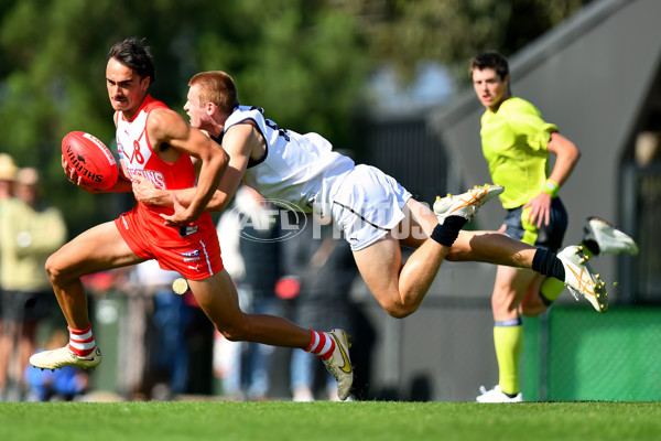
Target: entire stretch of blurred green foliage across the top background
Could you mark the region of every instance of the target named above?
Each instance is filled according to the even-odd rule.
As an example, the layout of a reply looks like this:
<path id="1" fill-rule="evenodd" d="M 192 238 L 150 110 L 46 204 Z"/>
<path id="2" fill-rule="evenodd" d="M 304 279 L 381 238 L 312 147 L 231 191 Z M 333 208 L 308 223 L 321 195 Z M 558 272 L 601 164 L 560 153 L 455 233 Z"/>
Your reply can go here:
<path id="1" fill-rule="evenodd" d="M 152 93 L 182 114 L 189 77 L 223 69 L 242 103 L 264 107 L 284 127 L 356 149 L 351 117 L 367 103 L 364 86 L 378 65 L 411 73 L 418 61 L 433 60 L 464 77 L 475 53 L 509 55 L 587 2 L 3 0 L 0 150 L 40 169 L 45 197 L 79 233 L 132 200 L 78 191 L 59 165 L 59 142 L 71 130 L 112 143 L 106 54 L 126 36 L 147 37 L 158 66 Z"/>

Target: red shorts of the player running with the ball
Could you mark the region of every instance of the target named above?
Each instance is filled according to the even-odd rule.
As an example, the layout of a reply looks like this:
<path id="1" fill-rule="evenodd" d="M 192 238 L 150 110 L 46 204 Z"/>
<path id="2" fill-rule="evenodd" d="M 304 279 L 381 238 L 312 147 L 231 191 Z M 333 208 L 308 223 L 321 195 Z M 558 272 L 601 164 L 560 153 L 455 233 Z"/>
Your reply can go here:
<path id="1" fill-rule="evenodd" d="M 223 270 L 220 244 L 208 213 L 185 227 L 169 227 L 163 222 L 138 205 L 119 216 L 115 225 L 137 256 L 156 259 L 161 268 L 186 279 L 202 280 Z"/>

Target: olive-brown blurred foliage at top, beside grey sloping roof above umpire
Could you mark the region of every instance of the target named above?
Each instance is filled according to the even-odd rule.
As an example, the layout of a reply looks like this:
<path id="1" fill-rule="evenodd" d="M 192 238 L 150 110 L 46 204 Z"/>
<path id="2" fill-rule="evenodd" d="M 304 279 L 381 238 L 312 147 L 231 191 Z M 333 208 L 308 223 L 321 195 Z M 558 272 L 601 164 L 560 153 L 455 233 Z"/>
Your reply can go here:
<path id="1" fill-rule="evenodd" d="M 433 60 L 468 80 L 468 61 L 486 50 L 506 56 L 592 0 L 359 0 L 372 56 L 410 79 Z"/>

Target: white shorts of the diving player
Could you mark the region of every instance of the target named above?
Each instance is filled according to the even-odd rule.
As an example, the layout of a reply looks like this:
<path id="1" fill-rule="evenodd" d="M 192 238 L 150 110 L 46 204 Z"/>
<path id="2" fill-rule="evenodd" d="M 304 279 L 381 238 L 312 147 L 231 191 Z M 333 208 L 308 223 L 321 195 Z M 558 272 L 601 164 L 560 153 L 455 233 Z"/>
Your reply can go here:
<path id="1" fill-rule="evenodd" d="M 404 218 L 411 197 L 394 179 L 371 165 L 359 164 L 333 189 L 330 213 L 357 251 L 383 237 Z"/>

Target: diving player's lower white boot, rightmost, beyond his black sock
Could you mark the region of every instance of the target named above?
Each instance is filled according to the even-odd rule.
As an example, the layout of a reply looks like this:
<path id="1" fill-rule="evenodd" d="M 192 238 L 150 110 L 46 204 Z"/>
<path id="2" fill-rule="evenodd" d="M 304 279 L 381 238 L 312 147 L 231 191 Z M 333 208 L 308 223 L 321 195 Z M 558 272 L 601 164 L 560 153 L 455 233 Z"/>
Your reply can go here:
<path id="1" fill-rule="evenodd" d="M 608 292 L 600 275 L 593 272 L 587 263 L 588 257 L 583 252 L 583 246 L 570 245 L 557 254 L 565 269 L 564 283 L 578 300 L 583 295 L 598 312 L 608 309 Z"/>

